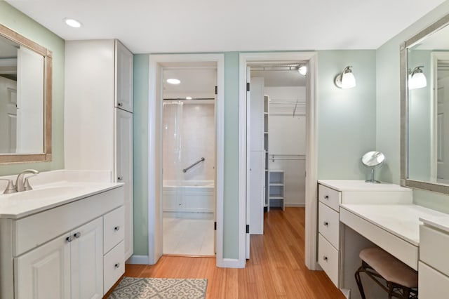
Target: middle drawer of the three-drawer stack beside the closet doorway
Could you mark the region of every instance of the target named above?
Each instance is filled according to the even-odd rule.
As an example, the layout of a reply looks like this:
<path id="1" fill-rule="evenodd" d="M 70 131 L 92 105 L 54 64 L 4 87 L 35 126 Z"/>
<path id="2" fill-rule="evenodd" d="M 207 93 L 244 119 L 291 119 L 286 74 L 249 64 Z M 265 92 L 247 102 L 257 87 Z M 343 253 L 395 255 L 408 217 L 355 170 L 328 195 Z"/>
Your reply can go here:
<path id="1" fill-rule="evenodd" d="M 332 208 L 319 203 L 319 232 L 337 249 L 340 248 L 340 221 L 338 218 L 339 214 Z"/>

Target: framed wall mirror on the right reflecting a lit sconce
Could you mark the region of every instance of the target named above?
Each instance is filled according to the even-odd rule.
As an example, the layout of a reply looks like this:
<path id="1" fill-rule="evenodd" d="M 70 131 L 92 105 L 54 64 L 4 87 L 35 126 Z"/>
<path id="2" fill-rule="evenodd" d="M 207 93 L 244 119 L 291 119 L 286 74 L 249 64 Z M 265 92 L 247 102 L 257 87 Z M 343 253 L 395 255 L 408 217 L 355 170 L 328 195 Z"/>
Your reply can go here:
<path id="1" fill-rule="evenodd" d="M 449 15 L 401 46 L 401 185 L 449 194 Z"/>

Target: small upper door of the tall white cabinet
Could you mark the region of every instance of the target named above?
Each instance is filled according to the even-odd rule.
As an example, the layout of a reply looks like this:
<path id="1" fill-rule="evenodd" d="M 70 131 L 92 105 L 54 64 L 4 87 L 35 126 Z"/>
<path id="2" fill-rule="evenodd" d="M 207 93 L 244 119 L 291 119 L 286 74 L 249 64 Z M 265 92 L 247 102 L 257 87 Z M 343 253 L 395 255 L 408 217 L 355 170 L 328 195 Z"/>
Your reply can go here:
<path id="1" fill-rule="evenodd" d="M 115 107 L 133 112 L 133 53 L 116 41 Z"/>

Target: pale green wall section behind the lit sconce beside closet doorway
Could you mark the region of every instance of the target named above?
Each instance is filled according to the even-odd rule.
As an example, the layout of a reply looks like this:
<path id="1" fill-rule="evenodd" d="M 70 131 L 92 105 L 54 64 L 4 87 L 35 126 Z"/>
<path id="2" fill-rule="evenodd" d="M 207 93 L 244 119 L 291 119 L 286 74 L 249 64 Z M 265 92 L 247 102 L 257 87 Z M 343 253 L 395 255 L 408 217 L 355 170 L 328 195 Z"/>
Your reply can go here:
<path id="1" fill-rule="evenodd" d="M 352 66 L 357 86 L 334 79 Z M 375 148 L 375 51 L 318 52 L 318 178 L 365 180 L 361 157 Z M 388 160 L 386 161 L 386 164 Z"/>

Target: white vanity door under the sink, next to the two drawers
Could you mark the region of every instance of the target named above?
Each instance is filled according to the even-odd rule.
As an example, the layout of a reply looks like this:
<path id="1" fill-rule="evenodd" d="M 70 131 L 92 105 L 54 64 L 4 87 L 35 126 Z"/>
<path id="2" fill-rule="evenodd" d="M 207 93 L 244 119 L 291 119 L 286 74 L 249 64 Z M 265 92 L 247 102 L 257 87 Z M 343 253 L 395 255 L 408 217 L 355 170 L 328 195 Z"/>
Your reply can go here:
<path id="1" fill-rule="evenodd" d="M 72 299 L 102 298 L 103 220 L 97 218 L 72 232 Z"/>

